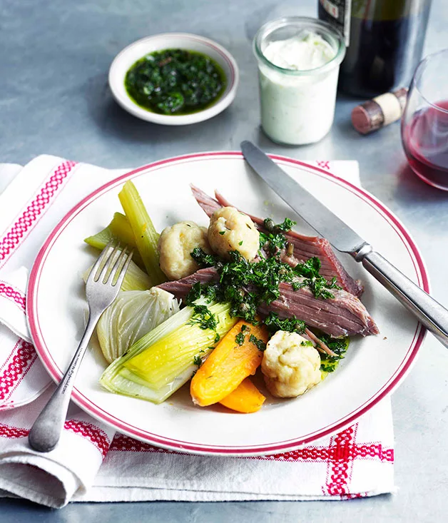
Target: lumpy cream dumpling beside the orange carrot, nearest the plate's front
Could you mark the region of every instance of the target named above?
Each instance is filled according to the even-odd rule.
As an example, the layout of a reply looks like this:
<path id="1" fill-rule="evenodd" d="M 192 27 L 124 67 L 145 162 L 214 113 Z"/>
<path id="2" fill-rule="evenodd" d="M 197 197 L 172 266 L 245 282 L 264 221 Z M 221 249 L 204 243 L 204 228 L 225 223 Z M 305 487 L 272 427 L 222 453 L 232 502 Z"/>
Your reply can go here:
<path id="1" fill-rule="evenodd" d="M 268 342 L 261 370 L 273 396 L 297 397 L 320 382 L 320 355 L 297 332 L 278 330 Z"/>

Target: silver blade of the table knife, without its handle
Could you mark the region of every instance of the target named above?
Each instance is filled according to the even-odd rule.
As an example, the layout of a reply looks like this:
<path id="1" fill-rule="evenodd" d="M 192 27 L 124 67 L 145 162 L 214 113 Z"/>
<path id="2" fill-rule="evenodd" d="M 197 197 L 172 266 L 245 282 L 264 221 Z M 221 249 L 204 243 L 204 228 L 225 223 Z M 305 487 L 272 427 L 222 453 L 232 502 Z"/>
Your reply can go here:
<path id="1" fill-rule="evenodd" d="M 327 240 L 342 253 L 356 253 L 362 245 L 363 240 L 346 223 L 331 212 L 325 205 L 320 203 L 312 194 L 305 191 L 300 183 L 293 180 L 277 163 L 260 151 L 249 141 L 241 143 L 241 151 L 248 164 L 255 173 L 268 183 L 271 189 L 287 203 L 287 205 L 302 216 L 302 218 L 322 238 Z"/>

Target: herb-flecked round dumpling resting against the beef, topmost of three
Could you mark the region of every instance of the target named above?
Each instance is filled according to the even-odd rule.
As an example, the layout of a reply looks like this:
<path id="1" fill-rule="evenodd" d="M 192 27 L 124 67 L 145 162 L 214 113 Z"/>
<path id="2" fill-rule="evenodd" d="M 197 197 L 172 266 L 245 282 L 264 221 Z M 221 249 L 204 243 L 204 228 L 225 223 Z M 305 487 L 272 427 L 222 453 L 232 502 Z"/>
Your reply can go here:
<path id="1" fill-rule="evenodd" d="M 230 258 L 231 250 L 250 261 L 255 258 L 260 247 L 260 233 L 247 214 L 235 207 L 222 207 L 215 210 L 208 228 L 210 247 L 222 258 Z"/>

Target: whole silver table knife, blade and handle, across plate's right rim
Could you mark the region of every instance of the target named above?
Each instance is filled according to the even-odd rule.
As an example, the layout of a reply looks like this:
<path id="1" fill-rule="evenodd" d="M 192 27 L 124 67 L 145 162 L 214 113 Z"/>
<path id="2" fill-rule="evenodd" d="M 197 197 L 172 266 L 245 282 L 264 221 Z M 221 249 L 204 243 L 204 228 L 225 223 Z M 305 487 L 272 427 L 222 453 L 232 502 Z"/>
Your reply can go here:
<path id="1" fill-rule="evenodd" d="M 448 347 L 447 309 L 377 253 L 370 243 L 337 218 L 253 143 L 243 141 L 241 151 L 255 173 L 263 178 L 290 208 L 317 230 L 322 238 L 327 238 L 335 249 L 352 255 L 357 262 L 362 263 L 372 276 L 414 313 L 445 347 Z"/>

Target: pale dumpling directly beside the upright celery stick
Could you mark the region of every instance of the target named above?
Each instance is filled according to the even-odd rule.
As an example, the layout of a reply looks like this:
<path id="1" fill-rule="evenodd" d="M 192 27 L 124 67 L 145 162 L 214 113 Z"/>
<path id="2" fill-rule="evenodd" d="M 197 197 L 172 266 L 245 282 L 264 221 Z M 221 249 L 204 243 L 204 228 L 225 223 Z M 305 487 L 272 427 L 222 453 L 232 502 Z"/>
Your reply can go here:
<path id="1" fill-rule="evenodd" d="M 158 240 L 158 252 L 161 269 L 170 280 L 185 278 L 199 269 L 190 256 L 195 247 L 200 247 L 205 253 L 211 252 L 207 228 L 184 221 L 163 229 Z"/>

